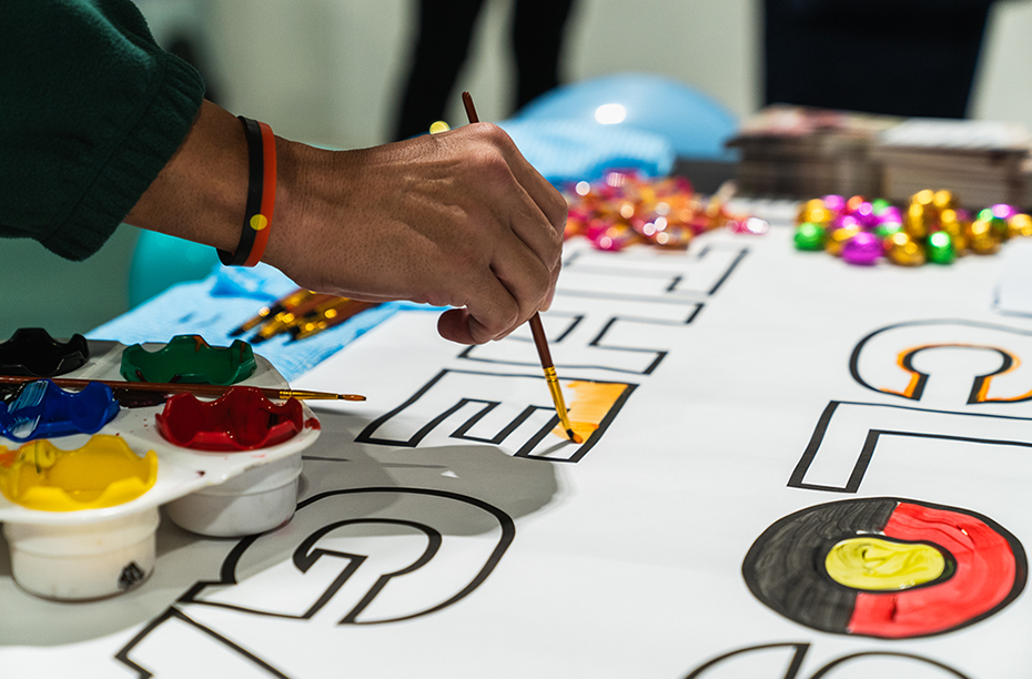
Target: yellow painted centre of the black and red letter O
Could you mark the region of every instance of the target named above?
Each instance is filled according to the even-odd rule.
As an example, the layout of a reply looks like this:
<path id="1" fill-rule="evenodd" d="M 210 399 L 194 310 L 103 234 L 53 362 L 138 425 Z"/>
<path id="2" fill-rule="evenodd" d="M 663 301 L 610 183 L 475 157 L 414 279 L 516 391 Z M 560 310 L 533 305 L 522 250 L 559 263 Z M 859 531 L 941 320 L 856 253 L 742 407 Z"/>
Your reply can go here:
<path id="1" fill-rule="evenodd" d="M 832 547 L 824 568 L 839 585 L 884 591 L 931 582 L 945 570 L 945 558 L 931 545 L 861 536 Z"/>

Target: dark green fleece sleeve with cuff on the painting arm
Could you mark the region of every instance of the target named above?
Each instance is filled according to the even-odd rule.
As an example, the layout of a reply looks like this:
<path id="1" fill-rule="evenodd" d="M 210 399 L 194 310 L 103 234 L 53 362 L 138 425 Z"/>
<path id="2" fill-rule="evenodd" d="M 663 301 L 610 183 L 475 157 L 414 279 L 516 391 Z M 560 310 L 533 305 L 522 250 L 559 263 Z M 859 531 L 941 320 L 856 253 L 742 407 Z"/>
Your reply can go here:
<path id="1" fill-rule="evenodd" d="M 97 252 L 179 149 L 204 83 L 129 0 L 4 0 L 0 236 Z"/>

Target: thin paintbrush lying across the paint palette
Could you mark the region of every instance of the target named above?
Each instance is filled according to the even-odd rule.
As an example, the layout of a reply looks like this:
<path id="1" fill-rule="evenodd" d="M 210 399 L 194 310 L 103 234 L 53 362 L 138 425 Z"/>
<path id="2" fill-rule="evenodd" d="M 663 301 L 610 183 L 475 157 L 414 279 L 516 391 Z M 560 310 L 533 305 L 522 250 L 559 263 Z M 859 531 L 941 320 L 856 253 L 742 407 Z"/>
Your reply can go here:
<path id="1" fill-rule="evenodd" d="M 20 387 L 20 385 L 42 379 L 24 375 L 0 375 L 0 389 Z M 162 403 L 175 394 L 193 394 L 194 396 L 222 396 L 232 386 L 219 384 L 191 383 L 162 383 L 162 382 L 121 382 L 113 379 L 75 379 L 70 377 L 50 377 L 62 389 L 84 389 L 91 382 L 99 382 L 111 387 L 114 397 L 124 405 L 154 405 Z M 360 394 L 331 394 L 328 392 L 305 392 L 296 389 L 279 389 L 275 387 L 252 387 L 259 389 L 265 398 L 297 398 L 300 401 L 365 401 Z M 123 401 L 124 399 L 124 401 Z"/>

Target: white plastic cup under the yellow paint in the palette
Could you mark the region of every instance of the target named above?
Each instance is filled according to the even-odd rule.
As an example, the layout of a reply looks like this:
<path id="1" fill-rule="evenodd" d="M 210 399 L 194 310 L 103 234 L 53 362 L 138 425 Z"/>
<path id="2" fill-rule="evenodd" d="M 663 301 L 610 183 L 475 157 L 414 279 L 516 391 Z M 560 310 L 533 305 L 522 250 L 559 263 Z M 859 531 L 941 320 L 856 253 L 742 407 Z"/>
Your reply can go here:
<path id="1" fill-rule="evenodd" d="M 14 581 L 62 601 L 99 599 L 132 589 L 154 570 L 156 508 L 79 525 L 10 524 Z"/>

